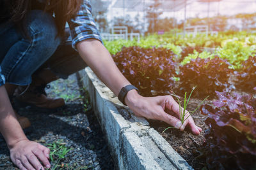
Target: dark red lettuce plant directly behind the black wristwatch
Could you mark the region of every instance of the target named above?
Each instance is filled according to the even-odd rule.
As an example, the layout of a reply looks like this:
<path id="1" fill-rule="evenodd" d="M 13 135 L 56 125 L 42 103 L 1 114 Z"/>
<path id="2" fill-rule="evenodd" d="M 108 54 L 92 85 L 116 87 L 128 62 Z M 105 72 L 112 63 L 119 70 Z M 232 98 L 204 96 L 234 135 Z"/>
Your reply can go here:
<path id="1" fill-rule="evenodd" d="M 175 54 L 166 48 L 130 46 L 113 55 L 122 74 L 143 96 L 168 94 L 173 87 Z"/>

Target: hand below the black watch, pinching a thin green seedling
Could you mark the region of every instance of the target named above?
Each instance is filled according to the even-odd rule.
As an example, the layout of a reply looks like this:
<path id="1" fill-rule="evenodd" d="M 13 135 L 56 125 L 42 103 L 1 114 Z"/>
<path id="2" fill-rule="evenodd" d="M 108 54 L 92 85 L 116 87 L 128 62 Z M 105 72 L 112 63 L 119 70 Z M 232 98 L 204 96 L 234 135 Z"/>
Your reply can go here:
<path id="1" fill-rule="evenodd" d="M 200 134 L 202 129 L 195 125 L 195 122 L 187 112 L 182 125 L 180 122 L 179 104 L 175 102 L 172 96 L 143 97 L 131 90 L 125 97 L 125 103 L 134 111 L 138 117 L 145 117 L 154 120 L 162 120 L 173 127 L 184 131 L 188 124 L 193 134 Z M 170 115 L 172 114 L 172 115 Z"/>

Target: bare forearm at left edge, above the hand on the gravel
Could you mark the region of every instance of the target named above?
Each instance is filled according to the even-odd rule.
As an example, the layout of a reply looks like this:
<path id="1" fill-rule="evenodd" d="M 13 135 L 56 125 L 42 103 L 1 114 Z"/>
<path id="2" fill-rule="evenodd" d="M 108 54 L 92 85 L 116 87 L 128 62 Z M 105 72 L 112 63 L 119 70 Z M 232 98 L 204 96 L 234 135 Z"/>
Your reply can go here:
<path id="1" fill-rule="evenodd" d="M 4 86 L 0 87 L 0 132 L 9 148 L 22 139 L 27 139 L 20 127 Z"/>

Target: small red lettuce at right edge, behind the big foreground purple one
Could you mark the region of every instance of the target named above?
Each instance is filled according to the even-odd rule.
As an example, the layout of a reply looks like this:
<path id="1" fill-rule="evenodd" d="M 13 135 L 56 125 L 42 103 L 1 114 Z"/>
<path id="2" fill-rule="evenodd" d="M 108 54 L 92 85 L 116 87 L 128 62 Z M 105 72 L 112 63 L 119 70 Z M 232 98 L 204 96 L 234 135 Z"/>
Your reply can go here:
<path id="1" fill-rule="evenodd" d="M 256 87 L 256 56 L 249 57 L 242 64 L 242 69 L 239 72 L 236 81 L 236 87 L 246 92 L 252 92 Z"/>

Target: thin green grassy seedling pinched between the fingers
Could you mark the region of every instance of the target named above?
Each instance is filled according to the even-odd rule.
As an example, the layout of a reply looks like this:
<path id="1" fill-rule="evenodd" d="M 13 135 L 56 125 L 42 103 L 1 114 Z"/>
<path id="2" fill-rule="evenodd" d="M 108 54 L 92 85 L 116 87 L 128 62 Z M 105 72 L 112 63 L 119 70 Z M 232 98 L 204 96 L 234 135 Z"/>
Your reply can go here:
<path id="1" fill-rule="evenodd" d="M 184 122 L 191 116 L 193 115 L 193 113 L 195 113 L 196 110 L 198 110 L 198 108 L 200 108 L 200 106 L 204 103 L 204 101 L 209 97 L 205 97 L 205 99 L 197 106 L 197 108 L 193 111 L 186 111 L 186 108 L 188 108 L 188 104 L 189 104 L 189 100 L 190 100 L 190 97 L 193 93 L 193 91 L 196 89 L 196 87 L 193 87 L 191 93 L 189 94 L 189 97 L 187 99 L 187 92 L 185 92 L 185 95 L 184 95 L 184 101 L 180 101 L 179 97 L 175 94 L 171 94 L 172 96 L 176 97 L 178 103 L 179 103 L 179 115 L 180 115 L 180 122 L 181 122 L 181 125 L 184 124 Z M 183 109 L 182 109 L 182 106 L 181 104 L 184 103 L 184 106 L 183 106 Z M 188 117 L 186 117 L 186 115 L 188 115 Z M 166 129 L 164 129 L 163 132 L 165 132 L 166 130 L 168 129 L 171 129 L 171 128 L 175 128 L 175 127 L 167 127 Z M 163 134 L 162 132 L 162 134 Z"/>

